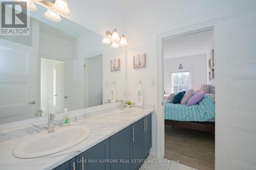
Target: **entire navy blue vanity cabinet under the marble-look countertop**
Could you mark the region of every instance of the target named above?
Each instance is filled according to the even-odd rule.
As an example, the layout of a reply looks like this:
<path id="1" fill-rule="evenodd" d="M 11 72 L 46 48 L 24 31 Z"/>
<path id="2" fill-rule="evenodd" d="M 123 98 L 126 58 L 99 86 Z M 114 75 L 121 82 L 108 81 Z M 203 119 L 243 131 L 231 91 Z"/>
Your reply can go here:
<path id="1" fill-rule="evenodd" d="M 152 147 L 152 114 L 53 170 L 138 170 Z"/>

